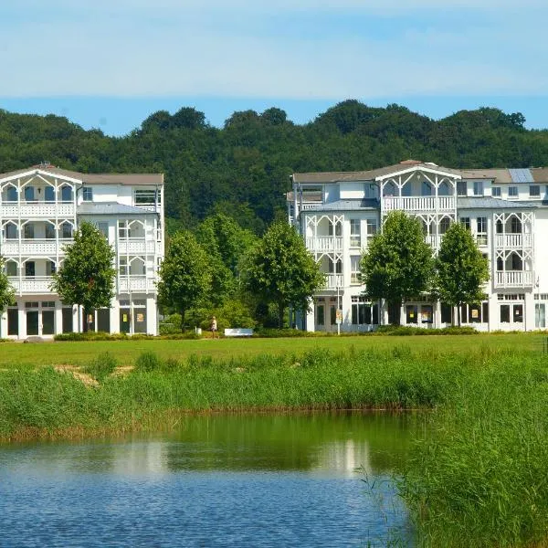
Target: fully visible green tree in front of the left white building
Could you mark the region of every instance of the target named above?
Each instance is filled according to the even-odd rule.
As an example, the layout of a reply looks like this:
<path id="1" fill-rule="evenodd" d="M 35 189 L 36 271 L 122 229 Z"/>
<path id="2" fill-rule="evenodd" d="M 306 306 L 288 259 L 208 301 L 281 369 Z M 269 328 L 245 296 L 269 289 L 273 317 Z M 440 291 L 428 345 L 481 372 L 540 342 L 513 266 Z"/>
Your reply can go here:
<path id="1" fill-rule="evenodd" d="M 100 230 L 86 222 L 80 225 L 74 243 L 65 250 L 66 257 L 53 275 L 51 290 L 65 302 L 83 308 L 87 331 L 90 312 L 111 306 L 116 276 L 114 250 Z"/>

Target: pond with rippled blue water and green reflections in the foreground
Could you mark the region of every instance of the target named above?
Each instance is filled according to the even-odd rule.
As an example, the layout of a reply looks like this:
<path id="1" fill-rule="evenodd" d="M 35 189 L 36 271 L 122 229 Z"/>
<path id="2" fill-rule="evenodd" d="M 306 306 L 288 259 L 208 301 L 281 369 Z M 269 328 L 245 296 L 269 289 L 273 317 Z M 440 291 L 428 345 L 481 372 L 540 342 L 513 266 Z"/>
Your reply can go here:
<path id="1" fill-rule="evenodd" d="M 418 422 L 182 416 L 153 435 L 0 446 L 0 545 L 385 545 L 406 527 L 390 474 Z"/>

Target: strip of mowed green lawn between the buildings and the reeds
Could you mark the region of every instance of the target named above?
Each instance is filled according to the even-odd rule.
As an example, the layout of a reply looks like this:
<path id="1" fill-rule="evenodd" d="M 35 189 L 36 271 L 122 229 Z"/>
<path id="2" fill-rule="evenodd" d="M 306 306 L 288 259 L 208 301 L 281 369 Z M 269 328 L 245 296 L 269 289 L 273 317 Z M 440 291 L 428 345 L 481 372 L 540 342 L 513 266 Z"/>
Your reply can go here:
<path id="1" fill-rule="evenodd" d="M 203 339 L 199 341 L 100 341 L 100 342 L 43 342 L 24 344 L 0 343 L 0 368 L 37 365 L 88 364 L 98 353 L 110 352 L 120 365 L 134 364 L 140 353 L 149 351 L 162 358 L 184 360 L 190 354 L 210 355 L 227 359 L 258 353 L 301 354 L 314 349 L 341 352 L 354 348 L 389 349 L 405 345 L 414 352 L 428 349 L 437 352 L 468 352 L 479 347 L 512 348 L 524 352 L 543 352 L 544 334 L 508 335 L 451 335 L 451 336 L 364 336 L 281 339 Z M 548 361 L 548 357 L 547 357 Z"/>

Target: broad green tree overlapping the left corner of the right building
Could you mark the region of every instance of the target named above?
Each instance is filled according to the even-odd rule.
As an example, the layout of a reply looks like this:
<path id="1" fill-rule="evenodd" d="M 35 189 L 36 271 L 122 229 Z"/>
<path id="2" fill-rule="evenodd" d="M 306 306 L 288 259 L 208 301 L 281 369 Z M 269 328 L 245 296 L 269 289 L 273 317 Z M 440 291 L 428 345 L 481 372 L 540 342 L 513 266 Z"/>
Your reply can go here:
<path id="1" fill-rule="evenodd" d="M 288 306 L 307 310 L 325 278 L 294 227 L 279 221 L 251 248 L 242 273 L 245 286 L 278 307 L 279 327 Z"/>

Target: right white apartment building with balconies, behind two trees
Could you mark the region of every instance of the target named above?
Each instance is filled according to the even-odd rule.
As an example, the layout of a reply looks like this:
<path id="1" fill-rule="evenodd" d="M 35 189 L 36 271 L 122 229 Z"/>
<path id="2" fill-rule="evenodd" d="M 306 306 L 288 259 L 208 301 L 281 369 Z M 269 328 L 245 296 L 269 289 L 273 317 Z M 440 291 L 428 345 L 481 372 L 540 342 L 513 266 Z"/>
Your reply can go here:
<path id="1" fill-rule="evenodd" d="M 480 331 L 546 328 L 548 308 L 548 168 L 458 170 L 406 161 L 352 173 L 293 174 L 290 223 L 320 261 L 326 285 L 300 318 L 308 331 L 371 331 L 401 313 L 407 325 L 445 327 L 456 310 L 428 295 L 388 311 L 364 300 L 359 262 L 385 216 L 416 216 L 436 249 L 450 223 L 472 231 L 489 258 L 486 299 L 462 307 L 463 325 Z"/>

